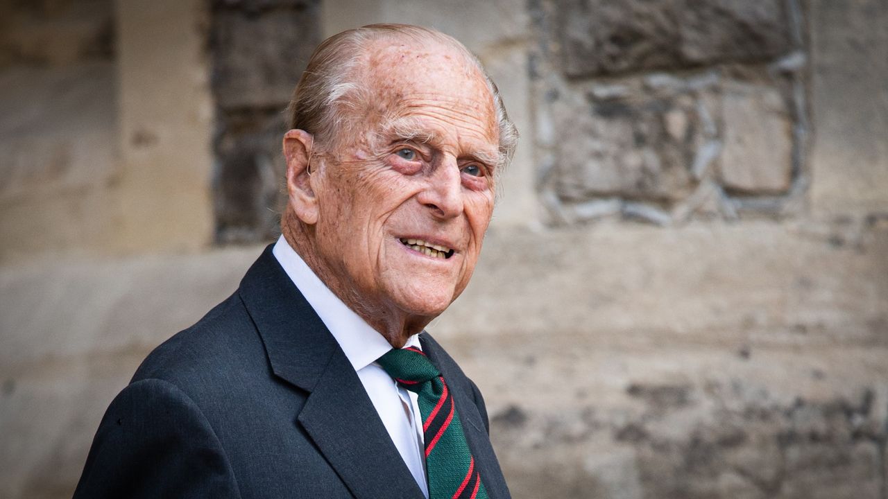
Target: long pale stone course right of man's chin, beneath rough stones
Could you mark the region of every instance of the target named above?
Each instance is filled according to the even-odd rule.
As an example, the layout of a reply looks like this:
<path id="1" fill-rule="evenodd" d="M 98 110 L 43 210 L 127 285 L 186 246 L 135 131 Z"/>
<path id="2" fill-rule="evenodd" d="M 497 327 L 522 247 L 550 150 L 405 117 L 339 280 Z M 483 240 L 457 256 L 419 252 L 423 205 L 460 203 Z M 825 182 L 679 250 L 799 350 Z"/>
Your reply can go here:
<path id="1" fill-rule="evenodd" d="M 888 342 L 888 231 L 876 226 L 602 225 L 491 232 L 484 244 L 472 282 L 435 323 L 441 334 Z M 491 296 L 495 308 L 478 305 Z"/>

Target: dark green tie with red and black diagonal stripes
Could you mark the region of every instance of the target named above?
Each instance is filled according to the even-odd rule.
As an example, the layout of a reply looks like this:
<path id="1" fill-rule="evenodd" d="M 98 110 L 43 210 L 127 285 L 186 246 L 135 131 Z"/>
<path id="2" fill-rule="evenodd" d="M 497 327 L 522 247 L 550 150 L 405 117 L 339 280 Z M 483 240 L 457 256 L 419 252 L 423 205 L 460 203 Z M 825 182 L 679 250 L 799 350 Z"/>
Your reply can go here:
<path id="1" fill-rule="evenodd" d="M 386 352 L 377 362 L 395 381 L 419 395 L 429 499 L 487 499 L 453 394 L 438 368 L 412 346 Z"/>

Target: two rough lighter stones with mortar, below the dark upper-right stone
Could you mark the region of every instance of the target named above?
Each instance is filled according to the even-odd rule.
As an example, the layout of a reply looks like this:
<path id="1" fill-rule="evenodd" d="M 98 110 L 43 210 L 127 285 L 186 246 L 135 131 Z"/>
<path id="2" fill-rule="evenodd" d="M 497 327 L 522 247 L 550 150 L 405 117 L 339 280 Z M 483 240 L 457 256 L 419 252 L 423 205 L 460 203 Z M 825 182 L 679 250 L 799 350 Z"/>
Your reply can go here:
<path id="1" fill-rule="evenodd" d="M 600 202 L 660 226 L 797 215 L 806 115 L 791 78 L 736 65 L 607 81 L 548 75 L 535 89 L 535 139 L 551 222 L 607 218 Z"/>

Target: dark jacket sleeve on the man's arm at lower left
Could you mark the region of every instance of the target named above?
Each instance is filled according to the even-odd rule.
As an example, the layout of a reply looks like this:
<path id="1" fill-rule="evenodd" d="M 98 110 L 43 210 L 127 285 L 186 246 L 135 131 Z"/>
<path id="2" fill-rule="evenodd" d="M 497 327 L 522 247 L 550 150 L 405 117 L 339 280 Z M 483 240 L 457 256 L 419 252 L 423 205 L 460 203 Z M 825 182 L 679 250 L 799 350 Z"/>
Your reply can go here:
<path id="1" fill-rule="evenodd" d="M 200 408 L 160 379 L 132 383 L 111 402 L 74 493 L 75 499 L 240 496 Z"/>

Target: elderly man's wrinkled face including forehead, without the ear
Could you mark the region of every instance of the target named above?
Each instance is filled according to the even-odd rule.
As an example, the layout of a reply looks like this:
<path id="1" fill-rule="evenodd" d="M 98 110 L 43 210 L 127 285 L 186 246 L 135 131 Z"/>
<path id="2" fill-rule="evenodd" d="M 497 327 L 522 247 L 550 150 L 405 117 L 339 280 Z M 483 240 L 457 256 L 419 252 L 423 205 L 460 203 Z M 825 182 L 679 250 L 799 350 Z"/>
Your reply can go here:
<path id="1" fill-rule="evenodd" d="M 453 49 L 379 44 L 367 67 L 359 131 L 316 179 L 318 249 L 371 313 L 433 317 L 468 284 L 494 209 L 492 97 Z"/>

